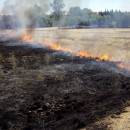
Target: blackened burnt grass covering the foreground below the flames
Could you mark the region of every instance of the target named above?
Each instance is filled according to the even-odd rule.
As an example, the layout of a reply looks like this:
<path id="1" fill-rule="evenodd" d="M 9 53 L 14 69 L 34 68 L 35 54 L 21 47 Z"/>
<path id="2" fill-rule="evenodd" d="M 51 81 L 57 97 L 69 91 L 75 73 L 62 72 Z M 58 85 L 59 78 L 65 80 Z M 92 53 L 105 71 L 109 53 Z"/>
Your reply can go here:
<path id="1" fill-rule="evenodd" d="M 130 76 L 117 70 L 117 63 L 1 43 L 0 129 L 107 129 L 93 124 L 129 106 Z"/>

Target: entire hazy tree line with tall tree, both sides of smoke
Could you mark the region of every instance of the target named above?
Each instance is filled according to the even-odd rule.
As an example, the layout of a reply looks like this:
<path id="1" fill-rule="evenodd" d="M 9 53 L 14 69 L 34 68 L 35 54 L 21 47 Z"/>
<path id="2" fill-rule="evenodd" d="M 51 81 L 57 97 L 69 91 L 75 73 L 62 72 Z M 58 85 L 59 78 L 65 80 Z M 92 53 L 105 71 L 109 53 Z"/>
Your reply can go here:
<path id="1" fill-rule="evenodd" d="M 91 9 L 71 7 L 66 13 L 63 0 L 53 0 L 52 12 L 43 14 L 42 9 L 34 7 L 37 19 L 36 27 L 68 27 L 68 28 L 128 28 L 130 27 L 130 12 L 120 10 L 105 10 L 94 12 Z M 3 26 L 4 25 L 4 26 Z M 0 28 L 19 27 L 16 16 L 0 16 Z"/>

